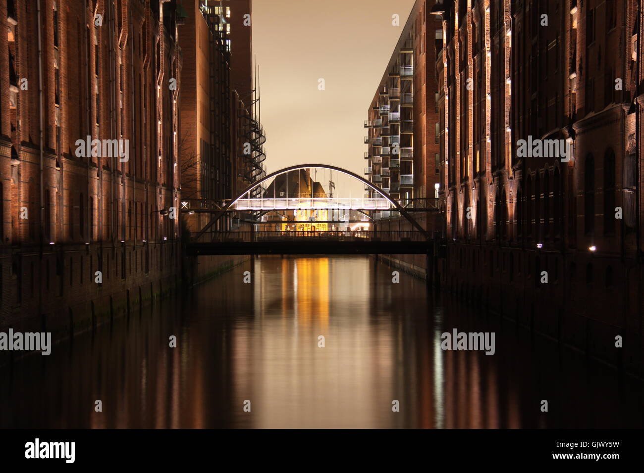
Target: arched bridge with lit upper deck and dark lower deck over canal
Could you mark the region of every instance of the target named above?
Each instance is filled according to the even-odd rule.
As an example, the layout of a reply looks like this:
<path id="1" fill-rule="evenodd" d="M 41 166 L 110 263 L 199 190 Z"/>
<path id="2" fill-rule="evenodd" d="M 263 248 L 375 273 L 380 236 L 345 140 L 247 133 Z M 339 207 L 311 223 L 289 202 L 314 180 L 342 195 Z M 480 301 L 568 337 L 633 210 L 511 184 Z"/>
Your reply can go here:
<path id="1" fill-rule="evenodd" d="M 310 169 L 336 171 L 349 176 L 372 189 L 373 196 L 337 198 L 332 192 L 328 195 L 319 183 L 310 179 Z M 265 187 L 269 182 L 270 185 Z M 301 185 L 303 182 L 306 185 Z M 332 190 L 332 184 L 331 181 L 329 190 Z M 303 187 L 306 187 L 306 192 L 303 192 Z M 226 201 L 222 207 L 201 211 L 211 213 L 212 217 L 204 227 L 190 234 L 187 251 L 191 255 L 431 254 L 430 234 L 413 218 L 412 212 L 438 212 L 439 206 L 437 199 L 393 199 L 370 181 L 340 167 L 303 164 L 271 172 L 236 198 Z M 354 212 L 354 215 L 360 218 L 343 219 L 347 225 L 340 230 L 334 225 L 338 223 L 337 219 L 329 217 L 334 211 L 337 211 L 336 216 L 341 214 L 345 217 L 351 211 L 359 212 Z M 243 219 L 244 223 L 251 224 L 247 230 L 222 225 L 222 218 L 234 212 L 250 217 Z M 376 217 L 388 212 L 398 212 L 413 230 L 380 229 Z M 364 221 L 368 223 L 362 223 Z M 351 223 L 357 225 L 351 226 Z M 221 227 L 227 229 L 222 230 Z M 256 227 L 261 228 L 258 230 Z"/>

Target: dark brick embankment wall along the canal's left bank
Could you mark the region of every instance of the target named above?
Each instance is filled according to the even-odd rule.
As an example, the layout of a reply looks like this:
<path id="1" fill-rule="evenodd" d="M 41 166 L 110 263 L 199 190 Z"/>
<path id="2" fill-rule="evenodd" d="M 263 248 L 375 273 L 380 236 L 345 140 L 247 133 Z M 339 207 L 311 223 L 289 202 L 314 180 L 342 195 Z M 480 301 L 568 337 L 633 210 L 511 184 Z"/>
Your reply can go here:
<path id="1" fill-rule="evenodd" d="M 0 251 L 0 331 L 48 331 L 53 340 L 138 313 L 249 259 L 187 257 L 181 241 Z"/>

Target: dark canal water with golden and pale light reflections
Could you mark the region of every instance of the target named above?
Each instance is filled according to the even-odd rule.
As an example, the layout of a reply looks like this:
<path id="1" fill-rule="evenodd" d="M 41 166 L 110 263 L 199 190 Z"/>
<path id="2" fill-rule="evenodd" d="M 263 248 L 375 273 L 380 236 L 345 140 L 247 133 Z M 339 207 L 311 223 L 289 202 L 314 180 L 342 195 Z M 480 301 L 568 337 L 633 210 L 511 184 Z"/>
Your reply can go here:
<path id="1" fill-rule="evenodd" d="M 453 328 L 495 332 L 495 355 L 442 351 Z M 639 382 L 367 257 L 261 257 L 0 367 L 0 427 L 642 427 L 643 404 Z"/>

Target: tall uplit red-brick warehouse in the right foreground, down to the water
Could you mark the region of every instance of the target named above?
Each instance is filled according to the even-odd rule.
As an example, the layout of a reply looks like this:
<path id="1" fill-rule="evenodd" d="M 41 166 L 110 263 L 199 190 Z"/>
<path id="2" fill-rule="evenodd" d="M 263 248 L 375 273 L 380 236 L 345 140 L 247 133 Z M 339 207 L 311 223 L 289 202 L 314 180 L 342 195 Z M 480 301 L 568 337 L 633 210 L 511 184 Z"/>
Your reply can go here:
<path id="1" fill-rule="evenodd" d="M 443 283 L 594 355 L 632 356 L 642 334 L 637 3 L 459 0 L 433 13 Z M 616 353 L 621 333 L 637 337 Z"/>

